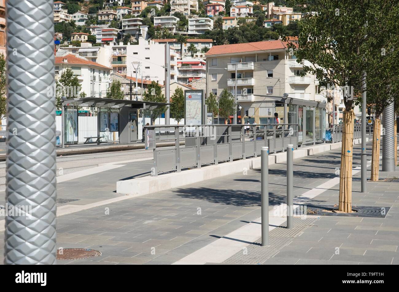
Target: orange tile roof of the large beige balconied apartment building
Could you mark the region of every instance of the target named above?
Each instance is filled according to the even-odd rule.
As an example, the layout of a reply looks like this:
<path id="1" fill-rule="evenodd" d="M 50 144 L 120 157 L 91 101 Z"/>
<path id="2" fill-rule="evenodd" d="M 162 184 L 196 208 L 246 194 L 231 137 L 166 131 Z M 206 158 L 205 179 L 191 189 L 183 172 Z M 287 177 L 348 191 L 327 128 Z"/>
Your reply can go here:
<path id="1" fill-rule="evenodd" d="M 286 49 L 286 48 L 287 48 L 286 44 L 278 39 L 278 40 L 260 41 L 260 42 L 253 42 L 253 43 L 213 46 L 205 54 L 205 56 L 233 54 L 233 53 L 246 53 L 246 52 L 259 52 L 259 51 L 279 50 L 279 49 Z"/>

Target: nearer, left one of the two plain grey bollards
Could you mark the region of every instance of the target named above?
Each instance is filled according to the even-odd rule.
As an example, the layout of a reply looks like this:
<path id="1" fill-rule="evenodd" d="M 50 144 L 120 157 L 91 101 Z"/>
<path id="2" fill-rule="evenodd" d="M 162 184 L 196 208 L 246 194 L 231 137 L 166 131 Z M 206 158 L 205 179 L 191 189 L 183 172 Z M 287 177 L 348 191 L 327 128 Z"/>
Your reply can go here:
<path id="1" fill-rule="evenodd" d="M 262 246 L 269 245 L 269 147 L 261 152 Z"/>

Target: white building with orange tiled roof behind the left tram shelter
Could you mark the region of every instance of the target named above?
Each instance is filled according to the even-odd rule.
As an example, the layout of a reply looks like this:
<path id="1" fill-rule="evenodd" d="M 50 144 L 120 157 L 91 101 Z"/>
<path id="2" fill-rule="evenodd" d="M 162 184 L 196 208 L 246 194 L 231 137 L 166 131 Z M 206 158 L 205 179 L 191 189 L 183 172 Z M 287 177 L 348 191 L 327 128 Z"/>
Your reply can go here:
<path id="1" fill-rule="evenodd" d="M 111 83 L 111 68 L 79 58 L 73 54 L 55 56 L 55 79 L 57 80 L 66 68 L 71 68 L 87 96 L 105 97 Z"/>

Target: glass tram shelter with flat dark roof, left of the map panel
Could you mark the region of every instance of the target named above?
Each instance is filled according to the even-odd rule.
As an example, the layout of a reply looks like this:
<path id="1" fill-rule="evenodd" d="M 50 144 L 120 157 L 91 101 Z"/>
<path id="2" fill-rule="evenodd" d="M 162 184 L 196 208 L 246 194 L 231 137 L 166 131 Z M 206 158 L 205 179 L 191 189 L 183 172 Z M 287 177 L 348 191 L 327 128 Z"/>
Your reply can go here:
<path id="1" fill-rule="evenodd" d="M 104 142 L 101 139 L 107 139 L 111 134 L 118 135 L 119 144 L 132 144 L 137 142 L 138 137 L 138 110 L 151 111 L 168 104 L 103 97 L 65 99 L 61 108 L 61 147 L 77 144 L 79 141 L 79 108 L 97 109 L 97 117 L 89 117 L 92 127 L 97 118 L 97 134 L 93 130 L 91 134 L 84 134 L 84 144 L 96 142 L 100 144 Z"/>

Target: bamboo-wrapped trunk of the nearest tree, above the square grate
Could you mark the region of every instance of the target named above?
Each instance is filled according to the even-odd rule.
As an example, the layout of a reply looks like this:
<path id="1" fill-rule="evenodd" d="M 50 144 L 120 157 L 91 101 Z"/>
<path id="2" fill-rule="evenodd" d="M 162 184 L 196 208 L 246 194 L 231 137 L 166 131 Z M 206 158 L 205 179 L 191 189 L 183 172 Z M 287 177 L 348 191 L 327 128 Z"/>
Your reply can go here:
<path id="1" fill-rule="evenodd" d="M 353 110 L 344 111 L 344 128 L 342 132 L 340 201 L 338 210 L 352 212 L 352 150 L 353 127 L 355 114 Z"/>

